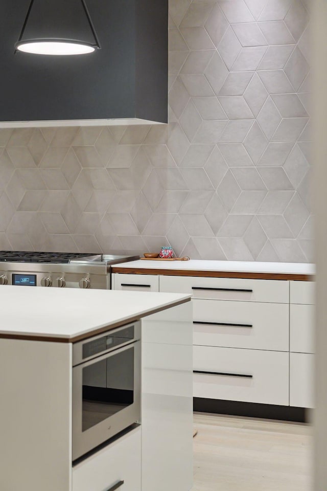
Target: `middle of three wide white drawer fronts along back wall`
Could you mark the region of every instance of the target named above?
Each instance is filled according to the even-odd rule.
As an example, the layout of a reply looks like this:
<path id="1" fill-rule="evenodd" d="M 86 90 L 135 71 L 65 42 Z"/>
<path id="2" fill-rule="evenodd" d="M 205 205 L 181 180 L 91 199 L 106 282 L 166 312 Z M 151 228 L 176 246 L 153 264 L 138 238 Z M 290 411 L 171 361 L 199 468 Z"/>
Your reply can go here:
<path id="1" fill-rule="evenodd" d="M 289 350 L 289 306 L 193 299 L 193 344 Z"/>

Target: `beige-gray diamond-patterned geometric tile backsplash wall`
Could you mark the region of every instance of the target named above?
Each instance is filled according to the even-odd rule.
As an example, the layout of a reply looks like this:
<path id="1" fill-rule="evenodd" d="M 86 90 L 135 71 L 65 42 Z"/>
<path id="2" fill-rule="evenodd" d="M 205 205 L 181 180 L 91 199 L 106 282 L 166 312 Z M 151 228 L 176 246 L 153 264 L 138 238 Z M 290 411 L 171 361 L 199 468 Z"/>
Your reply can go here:
<path id="1" fill-rule="evenodd" d="M 0 130 L 0 249 L 313 261 L 310 0 L 172 0 L 169 125 Z"/>

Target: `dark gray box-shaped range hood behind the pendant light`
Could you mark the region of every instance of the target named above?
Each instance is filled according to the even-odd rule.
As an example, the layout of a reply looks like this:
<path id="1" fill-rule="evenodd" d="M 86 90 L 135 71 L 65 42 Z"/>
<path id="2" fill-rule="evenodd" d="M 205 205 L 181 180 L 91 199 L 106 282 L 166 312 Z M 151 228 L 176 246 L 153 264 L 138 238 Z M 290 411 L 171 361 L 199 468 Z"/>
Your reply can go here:
<path id="1" fill-rule="evenodd" d="M 29 3 L 0 4 L 0 126 L 167 123 L 168 0 L 86 0 L 102 49 L 59 57 L 14 55 Z"/>

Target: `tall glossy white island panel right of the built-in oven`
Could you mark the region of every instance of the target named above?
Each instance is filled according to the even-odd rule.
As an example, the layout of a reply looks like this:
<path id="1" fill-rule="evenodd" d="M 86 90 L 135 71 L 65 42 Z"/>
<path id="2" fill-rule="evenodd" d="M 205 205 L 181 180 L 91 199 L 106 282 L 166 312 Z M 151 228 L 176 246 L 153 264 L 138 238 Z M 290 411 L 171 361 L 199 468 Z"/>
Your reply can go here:
<path id="1" fill-rule="evenodd" d="M 142 491 L 193 485 L 191 322 L 191 302 L 142 321 Z M 183 338 L 169 340 L 174 330 Z"/>

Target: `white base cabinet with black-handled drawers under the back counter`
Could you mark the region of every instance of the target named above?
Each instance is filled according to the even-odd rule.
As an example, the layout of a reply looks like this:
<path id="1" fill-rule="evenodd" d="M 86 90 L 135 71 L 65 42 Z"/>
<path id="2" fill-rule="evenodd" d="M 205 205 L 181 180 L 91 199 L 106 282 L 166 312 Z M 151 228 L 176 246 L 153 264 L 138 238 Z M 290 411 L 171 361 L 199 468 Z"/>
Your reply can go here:
<path id="1" fill-rule="evenodd" d="M 194 373 L 194 397 L 314 407 L 314 281 L 113 276 L 192 294 L 194 370 L 216 373 Z"/>

